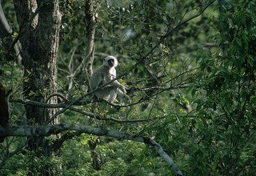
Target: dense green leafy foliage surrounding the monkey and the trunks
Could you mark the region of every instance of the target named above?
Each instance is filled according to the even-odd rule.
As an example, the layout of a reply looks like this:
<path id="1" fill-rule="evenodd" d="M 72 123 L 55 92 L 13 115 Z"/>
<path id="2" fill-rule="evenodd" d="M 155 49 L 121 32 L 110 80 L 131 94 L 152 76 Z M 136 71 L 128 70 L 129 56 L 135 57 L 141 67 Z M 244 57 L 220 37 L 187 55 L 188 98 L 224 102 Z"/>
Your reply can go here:
<path id="1" fill-rule="evenodd" d="M 120 82 L 137 90 L 130 108 L 106 102 L 79 108 L 104 118 L 153 120 L 118 123 L 67 110 L 59 115 L 61 122 L 154 138 L 185 175 L 256 174 L 256 3 L 226 0 L 219 6 L 220 2 L 207 6 L 210 1 L 94 1 L 94 68 L 107 55 L 117 56 Z M 12 4 L 2 6 L 16 26 Z M 87 90 L 83 72 L 69 89 L 70 68 L 77 68 L 85 54 L 84 1 L 63 0 L 61 7 L 58 91 L 74 98 Z M 196 14 L 200 15 L 186 22 Z M 22 66 L 7 61 L 4 39 L 0 82 L 14 90 L 13 98 L 22 98 L 26 78 L 21 78 Z M 146 90 L 154 86 L 162 89 Z M 11 102 L 10 114 L 11 126 L 24 125 L 21 104 Z M 23 141 L 10 137 L 1 144 L 1 175 L 26 175 L 31 165 L 54 166 L 56 175 L 173 174 L 149 146 L 138 142 L 80 134 L 63 143 L 61 155 L 38 158 L 25 147 L 9 157 Z M 99 170 L 92 165 L 89 141 L 97 143 Z"/>

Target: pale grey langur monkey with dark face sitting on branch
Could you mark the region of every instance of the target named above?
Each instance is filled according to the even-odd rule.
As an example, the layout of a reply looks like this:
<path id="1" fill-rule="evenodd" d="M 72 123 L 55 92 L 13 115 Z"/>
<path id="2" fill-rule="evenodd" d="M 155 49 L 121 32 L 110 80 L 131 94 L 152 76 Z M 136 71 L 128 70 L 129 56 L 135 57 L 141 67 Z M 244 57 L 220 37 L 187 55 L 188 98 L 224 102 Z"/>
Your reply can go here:
<path id="1" fill-rule="evenodd" d="M 126 86 L 123 86 L 116 78 L 115 67 L 118 66 L 118 59 L 114 56 L 107 56 L 103 60 L 102 66 L 94 71 L 90 77 L 90 88 L 91 90 L 96 90 L 98 87 L 103 86 L 110 82 L 110 84 L 102 87 L 100 90 L 96 90 L 94 95 L 97 98 L 102 98 L 111 104 L 115 104 L 114 100 L 117 98 L 117 95 L 121 98 L 126 97 L 130 100 L 128 95 L 126 95 Z"/>

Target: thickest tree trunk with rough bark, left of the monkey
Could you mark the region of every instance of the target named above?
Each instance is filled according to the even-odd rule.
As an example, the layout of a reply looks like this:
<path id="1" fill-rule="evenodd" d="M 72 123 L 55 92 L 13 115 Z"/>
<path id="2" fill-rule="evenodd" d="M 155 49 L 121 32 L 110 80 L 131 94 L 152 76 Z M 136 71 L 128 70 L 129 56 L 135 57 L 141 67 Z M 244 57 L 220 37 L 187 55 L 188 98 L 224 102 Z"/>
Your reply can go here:
<path id="1" fill-rule="evenodd" d="M 58 37 L 62 17 L 58 0 L 14 1 L 14 6 L 20 33 L 23 34 L 20 39 L 25 80 L 23 96 L 37 102 L 45 102 L 46 98 L 57 90 Z M 30 19 L 37 8 L 38 15 L 33 20 Z M 31 25 L 26 29 L 28 22 L 31 22 Z M 56 103 L 57 98 L 50 98 L 49 102 Z M 56 112 L 33 105 L 26 105 L 25 108 L 29 125 L 46 124 L 50 116 Z M 58 123 L 58 119 L 54 119 L 52 123 Z M 28 138 L 28 146 L 30 150 L 36 151 L 38 156 L 47 157 L 52 153 L 48 140 L 43 137 Z M 30 175 L 53 174 L 50 168 L 32 167 Z"/>

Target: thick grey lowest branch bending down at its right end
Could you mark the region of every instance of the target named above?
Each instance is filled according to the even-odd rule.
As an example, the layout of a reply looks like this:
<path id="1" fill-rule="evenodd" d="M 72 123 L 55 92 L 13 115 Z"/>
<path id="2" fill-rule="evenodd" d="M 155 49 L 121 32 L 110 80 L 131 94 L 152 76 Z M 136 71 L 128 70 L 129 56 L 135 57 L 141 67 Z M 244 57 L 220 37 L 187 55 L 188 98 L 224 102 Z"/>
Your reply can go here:
<path id="1" fill-rule="evenodd" d="M 112 138 L 118 138 L 121 140 L 131 140 L 135 142 L 143 142 L 146 145 L 151 146 L 160 157 L 162 157 L 166 163 L 170 166 L 176 175 L 182 175 L 181 170 L 175 165 L 174 161 L 166 154 L 157 142 L 147 137 L 140 137 L 133 134 L 127 134 L 117 130 L 106 130 L 102 128 L 96 128 L 93 126 L 79 126 L 76 124 L 58 124 L 50 126 L 10 126 L 7 128 L 0 127 L 0 134 L 6 136 L 49 136 L 51 134 L 59 134 L 63 131 L 75 131 L 77 133 L 94 134 L 97 136 L 109 136 Z"/>

